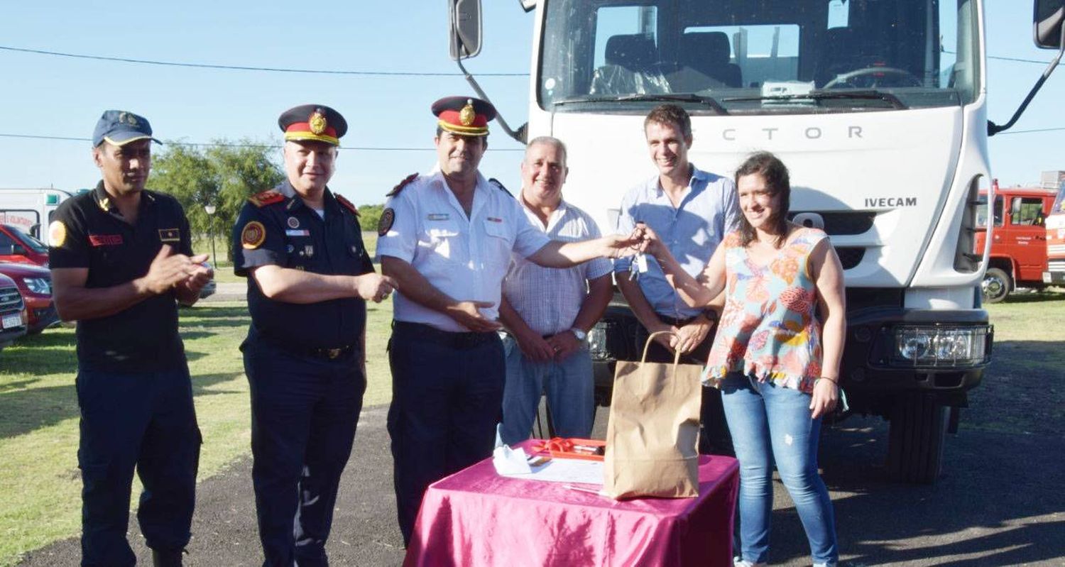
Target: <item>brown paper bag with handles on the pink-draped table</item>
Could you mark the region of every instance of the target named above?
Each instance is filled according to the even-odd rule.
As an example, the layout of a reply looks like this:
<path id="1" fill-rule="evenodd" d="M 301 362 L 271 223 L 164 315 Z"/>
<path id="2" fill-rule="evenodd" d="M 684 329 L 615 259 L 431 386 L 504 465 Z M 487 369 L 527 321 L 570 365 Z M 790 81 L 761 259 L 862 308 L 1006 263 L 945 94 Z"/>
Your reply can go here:
<path id="1" fill-rule="evenodd" d="M 616 499 L 699 496 L 697 365 L 645 362 L 652 333 L 638 362 L 619 361 L 606 428 L 603 493 Z"/>

